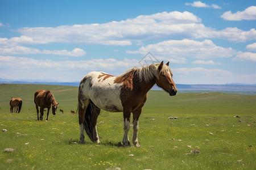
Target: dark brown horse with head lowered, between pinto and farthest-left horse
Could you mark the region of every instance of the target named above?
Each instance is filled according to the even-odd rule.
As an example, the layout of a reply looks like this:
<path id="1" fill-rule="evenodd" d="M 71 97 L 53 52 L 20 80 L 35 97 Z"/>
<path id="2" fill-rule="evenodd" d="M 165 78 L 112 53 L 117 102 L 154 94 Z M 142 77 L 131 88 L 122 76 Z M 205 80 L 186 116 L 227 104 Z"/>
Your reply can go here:
<path id="1" fill-rule="evenodd" d="M 38 107 L 40 107 L 40 120 L 43 120 L 44 108 L 48 109 L 46 121 L 48 121 L 49 109 L 52 106 L 52 114 L 55 115 L 58 104 L 51 93 L 51 91 L 38 90 L 35 92 L 34 102 L 36 105 L 36 112 L 39 113 Z M 38 117 L 39 120 L 39 117 Z"/>

